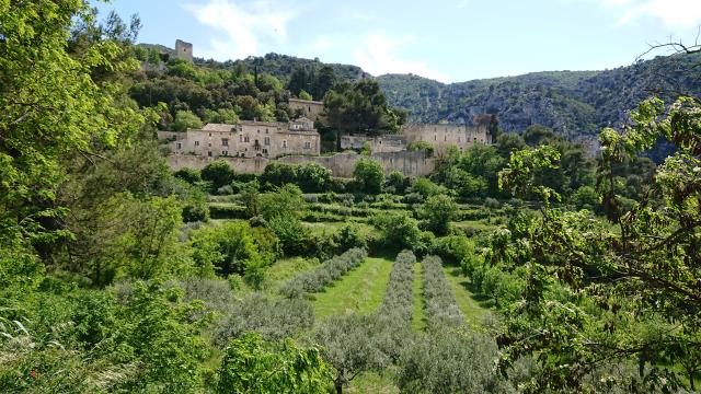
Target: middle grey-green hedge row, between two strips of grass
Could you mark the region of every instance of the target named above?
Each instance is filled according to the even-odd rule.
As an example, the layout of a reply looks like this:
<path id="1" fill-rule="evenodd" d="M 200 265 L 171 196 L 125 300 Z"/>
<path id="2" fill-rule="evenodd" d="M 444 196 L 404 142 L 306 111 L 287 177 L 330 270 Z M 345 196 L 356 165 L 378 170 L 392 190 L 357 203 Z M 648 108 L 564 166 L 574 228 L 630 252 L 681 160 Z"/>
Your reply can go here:
<path id="1" fill-rule="evenodd" d="M 406 324 L 412 322 L 414 306 L 414 263 L 416 257 L 411 251 L 402 251 L 397 255 L 390 281 L 379 313 L 382 316 L 397 316 Z"/>

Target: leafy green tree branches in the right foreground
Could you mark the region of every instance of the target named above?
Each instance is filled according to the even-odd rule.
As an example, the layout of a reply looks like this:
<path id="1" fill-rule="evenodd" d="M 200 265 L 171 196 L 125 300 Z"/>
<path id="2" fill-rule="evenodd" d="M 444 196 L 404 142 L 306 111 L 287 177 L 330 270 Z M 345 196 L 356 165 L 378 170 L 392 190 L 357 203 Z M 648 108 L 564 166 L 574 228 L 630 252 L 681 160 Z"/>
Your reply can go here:
<path id="1" fill-rule="evenodd" d="M 625 385 L 633 392 L 694 390 L 701 355 L 701 105 L 681 97 L 667 107 L 643 102 L 622 132 L 605 129 L 599 182 L 605 205 L 619 196 L 606 172 L 650 149 L 658 138 L 677 152 L 658 167 L 645 198 L 610 216 L 613 231 L 587 211 L 545 205 L 541 215 L 507 231 L 509 253 L 494 264 L 526 267 L 522 301 L 512 305 L 501 368 L 533 355 L 542 369 L 525 387 L 596 391 Z M 516 196 L 548 190 L 528 174 L 556 158 L 517 153 L 501 174 Z M 520 160 L 519 158 L 538 160 Z M 607 368 L 637 367 L 637 376 Z M 683 370 L 683 372 L 681 372 Z M 598 376 L 594 382 L 591 376 Z"/>

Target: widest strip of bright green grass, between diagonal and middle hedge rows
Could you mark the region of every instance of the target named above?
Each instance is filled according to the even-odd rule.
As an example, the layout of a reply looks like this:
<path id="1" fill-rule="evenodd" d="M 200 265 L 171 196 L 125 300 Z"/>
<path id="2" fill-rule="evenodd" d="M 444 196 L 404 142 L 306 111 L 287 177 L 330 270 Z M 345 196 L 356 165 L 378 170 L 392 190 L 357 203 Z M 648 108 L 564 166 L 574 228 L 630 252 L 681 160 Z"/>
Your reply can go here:
<path id="1" fill-rule="evenodd" d="M 347 313 L 369 314 L 382 302 L 392 262 L 368 257 L 325 291 L 314 294 L 314 315 L 323 320 Z"/>

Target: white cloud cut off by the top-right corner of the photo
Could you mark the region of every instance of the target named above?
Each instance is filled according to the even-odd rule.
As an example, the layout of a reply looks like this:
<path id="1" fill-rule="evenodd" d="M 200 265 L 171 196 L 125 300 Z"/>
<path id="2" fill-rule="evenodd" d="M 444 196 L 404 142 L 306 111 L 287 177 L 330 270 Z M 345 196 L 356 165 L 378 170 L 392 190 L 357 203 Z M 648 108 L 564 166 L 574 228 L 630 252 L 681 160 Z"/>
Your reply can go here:
<path id="1" fill-rule="evenodd" d="M 623 13 L 619 23 L 629 24 L 640 18 L 651 16 L 667 27 L 689 30 L 701 24 L 699 0 L 599 0 L 607 7 Z"/>

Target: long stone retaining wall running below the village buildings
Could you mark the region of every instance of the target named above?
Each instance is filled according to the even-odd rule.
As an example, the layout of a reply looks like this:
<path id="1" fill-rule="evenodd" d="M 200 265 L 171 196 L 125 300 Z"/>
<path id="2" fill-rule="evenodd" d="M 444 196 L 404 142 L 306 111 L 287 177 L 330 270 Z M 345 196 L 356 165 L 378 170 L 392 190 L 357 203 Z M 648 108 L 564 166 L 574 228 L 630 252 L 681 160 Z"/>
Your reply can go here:
<path id="1" fill-rule="evenodd" d="M 331 157 L 307 157 L 307 155 L 289 155 L 277 159 L 278 162 L 290 164 L 303 164 L 315 162 L 331 170 L 333 176 L 353 177 L 353 170 L 360 158 L 367 158 L 355 152 L 336 153 Z M 265 166 L 274 160 L 266 158 L 219 158 L 226 160 L 237 171 L 241 173 L 260 174 Z M 392 171 L 399 171 L 406 176 L 426 176 L 430 174 L 435 166 L 435 159 L 426 158 L 423 151 L 417 152 L 381 152 L 372 153 L 370 159 L 378 161 L 384 172 L 389 174 Z M 217 160 L 217 158 L 207 158 L 192 154 L 171 154 L 168 162 L 173 170 L 183 167 L 202 170 L 205 165 Z"/>

